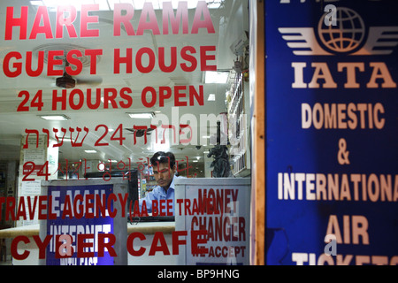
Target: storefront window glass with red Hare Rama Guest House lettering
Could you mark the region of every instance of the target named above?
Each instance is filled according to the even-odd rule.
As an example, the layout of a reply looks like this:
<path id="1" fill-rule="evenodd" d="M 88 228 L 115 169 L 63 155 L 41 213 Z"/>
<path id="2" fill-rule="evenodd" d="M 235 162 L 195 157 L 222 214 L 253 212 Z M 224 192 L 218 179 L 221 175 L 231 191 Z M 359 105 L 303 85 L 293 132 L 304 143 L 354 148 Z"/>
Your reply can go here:
<path id="1" fill-rule="evenodd" d="M 131 213 L 134 201 L 159 185 L 159 168 L 150 158 L 158 151 L 171 152 L 176 164 L 172 173 L 185 177 L 189 186 L 203 184 L 174 203 L 180 215 L 173 213 L 175 218 L 189 216 L 193 229 L 208 232 L 199 240 L 217 241 L 218 249 L 206 247 L 202 258 L 211 252 L 210 263 L 249 263 L 249 213 L 237 209 L 249 210 L 249 182 L 244 185 L 248 192 L 240 195 L 230 185 L 214 187 L 224 180 L 248 180 L 251 173 L 248 14 L 245 0 L 2 2 L 2 228 L 50 221 L 50 206 L 43 217 L 33 202 L 40 203 L 43 184 L 50 192 L 52 180 L 106 185 L 133 179 L 136 195 L 128 191 L 124 207 Z M 97 194 L 96 189 L 88 191 Z M 83 189 L 79 192 L 84 195 Z M 209 202 L 188 205 L 197 197 Z M 123 197 L 119 200 L 123 204 Z M 207 214 L 192 212 L 203 206 L 209 207 L 204 208 Z M 206 218 L 209 213 L 213 217 Z M 140 220 L 127 215 L 128 236 L 130 226 L 140 226 Z M 178 231 L 178 225 L 172 229 Z M 165 234 L 169 241 L 171 235 Z M 126 264 L 136 263 L 131 258 L 138 257 L 132 255 L 138 249 L 130 250 Z M 186 264 L 178 253 L 170 251 L 169 264 Z M 153 256 L 167 254 L 154 250 Z M 17 264 L 36 260 L 19 257 Z"/>

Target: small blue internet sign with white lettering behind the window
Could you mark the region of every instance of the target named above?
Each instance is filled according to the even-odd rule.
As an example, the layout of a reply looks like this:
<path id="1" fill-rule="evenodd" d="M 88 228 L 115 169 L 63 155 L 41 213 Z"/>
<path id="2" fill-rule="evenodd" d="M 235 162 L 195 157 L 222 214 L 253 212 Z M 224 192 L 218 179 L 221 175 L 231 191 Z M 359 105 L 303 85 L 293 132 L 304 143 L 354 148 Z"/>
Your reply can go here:
<path id="1" fill-rule="evenodd" d="M 51 237 L 46 264 L 113 265 L 113 257 L 104 249 L 107 236 L 114 233 L 109 202 L 113 185 L 49 186 L 47 194 L 53 209 L 47 220 Z M 98 209 L 100 206 L 105 210 Z"/>

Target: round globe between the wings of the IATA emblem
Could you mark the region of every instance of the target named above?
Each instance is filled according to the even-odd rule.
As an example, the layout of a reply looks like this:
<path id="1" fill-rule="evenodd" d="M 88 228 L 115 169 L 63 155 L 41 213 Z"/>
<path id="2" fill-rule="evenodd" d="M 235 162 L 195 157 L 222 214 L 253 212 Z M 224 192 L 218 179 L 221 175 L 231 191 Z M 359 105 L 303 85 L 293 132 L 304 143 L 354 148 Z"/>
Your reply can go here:
<path id="1" fill-rule="evenodd" d="M 336 17 L 336 25 L 326 26 L 324 14 L 319 20 L 318 34 L 321 42 L 329 50 L 339 53 L 348 53 L 363 42 L 365 35 L 364 21 L 361 17 L 346 7 L 338 7 L 333 16 Z"/>

